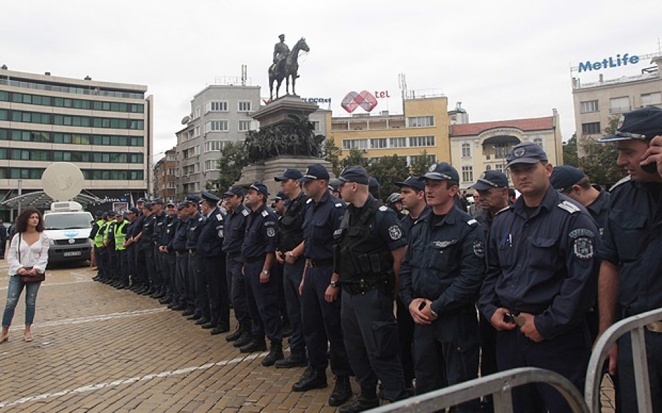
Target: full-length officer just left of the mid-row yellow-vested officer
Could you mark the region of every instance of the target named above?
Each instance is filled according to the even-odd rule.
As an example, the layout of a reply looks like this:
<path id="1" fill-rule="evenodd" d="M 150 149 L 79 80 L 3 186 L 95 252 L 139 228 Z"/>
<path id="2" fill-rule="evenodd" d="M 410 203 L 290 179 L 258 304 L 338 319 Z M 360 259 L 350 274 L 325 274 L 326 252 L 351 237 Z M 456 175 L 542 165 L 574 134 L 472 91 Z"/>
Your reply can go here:
<path id="1" fill-rule="evenodd" d="M 225 280 L 225 254 L 223 253 L 223 227 L 225 214 L 218 209 L 221 198 L 207 191 L 202 195 L 202 213 L 207 222 L 198 240 L 198 253 L 202 257 L 210 306 L 210 320 L 202 328 L 213 328 L 212 335 L 230 331 L 230 299 Z"/>

